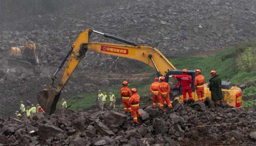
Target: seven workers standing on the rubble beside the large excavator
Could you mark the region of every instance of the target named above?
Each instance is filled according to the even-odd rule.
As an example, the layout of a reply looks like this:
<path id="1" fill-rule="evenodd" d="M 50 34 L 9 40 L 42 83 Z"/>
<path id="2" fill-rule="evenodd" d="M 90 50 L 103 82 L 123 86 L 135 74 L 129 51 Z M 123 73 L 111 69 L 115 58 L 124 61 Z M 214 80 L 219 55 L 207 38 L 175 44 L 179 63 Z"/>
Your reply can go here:
<path id="1" fill-rule="evenodd" d="M 194 81 L 194 87 L 196 89 L 196 94 L 198 97 L 198 101 L 205 102 L 204 96 L 204 76 L 201 74 L 200 69 L 196 69 L 196 77 Z M 218 101 L 222 103 L 223 96 L 221 91 L 221 79 L 216 74 L 216 71 L 210 71 L 212 78 L 210 79 L 209 89 L 211 91 L 212 100 L 217 106 Z M 183 103 L 188 104 L 194 102 L 192 97 L 192 79 L 190 75 L 188 75 L 188 70 L 183 69 L 182 75 L 171 75 L 170 77 L 178 79 L 178 84 L 182 86 L 182 95 L 183 95 Z M 170 100 L 170 85 L 165 82 L 165 77 L 160 77 L 160 83 L 157 77 L 154 78 L 154 83 L 150 85 L 150 92 L 152 93 L 152 101 L 153 108 L 159 105 L 159 109 L 164 109 L 164 103 L 168 105 L 168 109 L 172 109 L 172 101 Z M 178 85 L 178 86 L 180 86 Z M 188 93 L 188 100 L 187 100 Z M 138 118 L 141 118 L 141 113 L 139 112 L 139 103 L 140 103 L 140 95 L 137 93 L 136 88 L 132 88 L 130 90 L 128 88 L 128 82 L 123 82 L 123 87 L 120 89 L 120 97 L 122 98 L 124 112 L 131 112 L 134 120 L 134 126 L 138 125 Z M 137 116 L 138 115 L 138 116 Z"/>

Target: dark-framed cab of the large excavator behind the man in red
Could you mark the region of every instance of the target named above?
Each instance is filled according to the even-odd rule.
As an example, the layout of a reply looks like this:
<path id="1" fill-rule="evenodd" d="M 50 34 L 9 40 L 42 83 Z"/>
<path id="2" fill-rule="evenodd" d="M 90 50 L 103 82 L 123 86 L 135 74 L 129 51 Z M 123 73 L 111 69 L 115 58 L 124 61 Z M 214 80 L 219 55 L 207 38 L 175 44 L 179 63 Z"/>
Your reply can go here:
<path id="1" fill-rule="evenodd" d="M 182 95 L 182 86 L 180 84 L 180 80 L 170 77 L 171 75 L 182 75 L 182 70 L 170 70 L 168 71 L 168 73 L 166 73 L 165 81 L 170 85 L 170 88 L 171 88 L 170 98 L 172 101 L 174 101 L 175 97 L 179 97 Z M 194 92 L 195 91 L 194 81 L 196 77 L 196 72 L 188 70 L 188 75 L 190 75 L 192 79 L 192 84 L 190 84 L 190 87 L 192 89 L 192 92 Z"/>

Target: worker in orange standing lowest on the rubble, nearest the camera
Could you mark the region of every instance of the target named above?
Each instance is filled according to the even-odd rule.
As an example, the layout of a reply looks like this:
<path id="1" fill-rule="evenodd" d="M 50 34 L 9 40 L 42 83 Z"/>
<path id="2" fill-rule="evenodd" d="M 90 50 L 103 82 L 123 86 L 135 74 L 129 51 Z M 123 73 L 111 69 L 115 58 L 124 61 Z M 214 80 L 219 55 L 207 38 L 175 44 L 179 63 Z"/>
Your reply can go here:
<path id="1" fill-rule="evenodd" d="M 139 112 L 140 95 L 138 95 L 136 88 L 132 88 L 132 97 L 129 99 L 129 103 L 132 108 L 132 117 L 133 117 L 133 121 L 134 121 L 134 127 L 136 127 L 136 126 L 138 126 L 137 114 L 141 118 L 141 114 Z"/>

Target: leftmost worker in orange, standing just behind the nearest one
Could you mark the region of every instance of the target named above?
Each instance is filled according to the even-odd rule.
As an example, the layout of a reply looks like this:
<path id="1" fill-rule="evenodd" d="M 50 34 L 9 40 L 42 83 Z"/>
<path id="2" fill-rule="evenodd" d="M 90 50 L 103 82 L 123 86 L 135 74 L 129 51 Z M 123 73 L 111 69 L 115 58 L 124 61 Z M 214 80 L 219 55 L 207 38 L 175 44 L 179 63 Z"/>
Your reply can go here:
<path id="1" fill-rule="evenodd" d="M 120 96 L 122 98 L 123 106 L 124 106 L 124 112 L 127 113 L 127 111 L 131 111 L 129 99 L 132 96 L 131 90 L 128 88 L 128 82 L 123 82 L 123 87 L 120 89 Z"/>

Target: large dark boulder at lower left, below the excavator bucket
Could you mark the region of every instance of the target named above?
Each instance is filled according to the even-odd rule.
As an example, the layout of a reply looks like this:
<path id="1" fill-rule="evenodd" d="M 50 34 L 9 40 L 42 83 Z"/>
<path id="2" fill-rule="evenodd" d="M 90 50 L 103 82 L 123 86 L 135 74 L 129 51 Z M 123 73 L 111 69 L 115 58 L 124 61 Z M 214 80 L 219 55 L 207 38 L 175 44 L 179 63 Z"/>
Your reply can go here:
<path id="1" fill-rule="evenodd" d="M 65 132 L 60 128 L 52 125 L 52 124 L 43 124 L 38 128 L 38 136 L 40 136 L 43 140 L 47 140 L 51 137 L 55 137 L 58 140 L 64 138 Z"/>

